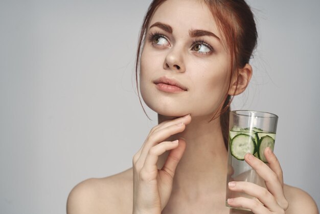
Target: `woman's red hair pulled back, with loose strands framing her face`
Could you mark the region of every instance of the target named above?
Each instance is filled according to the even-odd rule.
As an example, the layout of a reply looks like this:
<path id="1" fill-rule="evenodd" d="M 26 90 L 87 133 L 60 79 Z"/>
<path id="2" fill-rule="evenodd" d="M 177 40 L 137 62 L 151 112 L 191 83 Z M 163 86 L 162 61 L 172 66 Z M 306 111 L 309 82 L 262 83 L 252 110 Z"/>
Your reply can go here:
<path id="1" fill-rule="evenodd" d="M 139 100 L 142 105 L 139 93 L 138 68 L 142 44 L 144 42 L 146 31 L 150 23 L 150 19 L 159 5 L 166 0 L 154 0 L 150 4 L 145 15 L 143 25 L 140 31 L 138 50 L 135 61 L 135 80 L 138 90 Z M 230 83 L 233 75 L 238 75 L 238 69 L 243 68 L 257 45 L 257 28 L 254 20 L 254 15 L 250 7 L 244 0 L 202 0 L 205 5 L 211 10 L 217 27 L 223 35 L 223 44 L 230 54 Z M 237 68 L 237 69 L 234 69 Z M 236 74 L 234 74 L 236 72 Z M 233 96 L 225 95 L 224 101 L 221 103 L 221 111 L 215 113 L 212 119 L 220 116 L 220 124 L 223 134 L 224 144 L 227 147 L 228 141 L 228 122 L 230 103 Z M 143 108 L 144 110 L 144 108 Z M 145 110 L 144 110 L 145 112 Z"/>

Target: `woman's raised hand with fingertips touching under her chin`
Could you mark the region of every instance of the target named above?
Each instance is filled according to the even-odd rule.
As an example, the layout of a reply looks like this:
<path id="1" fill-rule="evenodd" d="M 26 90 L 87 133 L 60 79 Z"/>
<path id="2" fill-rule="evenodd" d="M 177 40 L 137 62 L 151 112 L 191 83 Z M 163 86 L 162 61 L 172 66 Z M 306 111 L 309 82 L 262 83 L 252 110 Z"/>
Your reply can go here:
<path id="1" fill-rule="evenodd" d="M 183 132 L 191 116 L 165 121 L 153 127 L 138 153 L 133 156 L 133 213 L 160 214 L 171 195 L 173 176 L 186 147 L 183 139 L 164 141 Z M 171 150 L 162 169 L 158 157 Z"/>

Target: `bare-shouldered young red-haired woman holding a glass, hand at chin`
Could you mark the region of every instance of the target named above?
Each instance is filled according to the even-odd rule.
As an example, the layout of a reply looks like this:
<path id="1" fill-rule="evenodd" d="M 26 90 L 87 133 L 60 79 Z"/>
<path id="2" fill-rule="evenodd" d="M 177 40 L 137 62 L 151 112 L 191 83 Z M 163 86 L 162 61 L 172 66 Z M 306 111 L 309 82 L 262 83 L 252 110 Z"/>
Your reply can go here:
<path id="1" fill-rule="evenodd" d="M 256 41 L 253 14 L 242 0 L 153 1 L 136 68 L 142 98 L 158 113 L 159 124 L 134 155 L 132 168 L 78 184 L 67 213 L 248 213 L 225 207 L 225 133 L 230 98 L 252 76 L 248 63 Z M 228 184 L 258 200 L 227 203 L 256 214 L 318 213 L 306 192 L 283 184 L 275 154 L 267 148 L 265 156 L 269 165 L 249 154 L 245 161 L 266 188 Z"/>

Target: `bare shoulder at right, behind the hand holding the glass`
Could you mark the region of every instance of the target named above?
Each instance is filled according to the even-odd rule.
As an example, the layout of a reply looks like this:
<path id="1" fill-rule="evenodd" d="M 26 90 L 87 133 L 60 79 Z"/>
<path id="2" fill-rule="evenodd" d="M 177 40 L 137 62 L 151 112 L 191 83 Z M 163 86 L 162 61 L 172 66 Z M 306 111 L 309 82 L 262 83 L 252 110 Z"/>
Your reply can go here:
<path id="1" fill-rule="evenodd" d="M 286 214 L 318 214 L 318 208 L 312 197 L 300 188 L 284 185 L 284 194 L 289 202 Z"/>

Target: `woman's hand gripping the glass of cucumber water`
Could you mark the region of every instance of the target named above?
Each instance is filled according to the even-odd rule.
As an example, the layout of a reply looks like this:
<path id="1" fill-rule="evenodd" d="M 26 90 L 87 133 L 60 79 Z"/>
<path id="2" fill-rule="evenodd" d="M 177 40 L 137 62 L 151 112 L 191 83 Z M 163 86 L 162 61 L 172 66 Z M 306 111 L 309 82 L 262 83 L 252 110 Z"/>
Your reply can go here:
<path id="1" fill-rule="evenodd" d="M 269 166 L 251 154 L 246 154 L 244 159 L 265 180 L 266 188 L 250 182 L 238 181 L 228 184 L 231 190 L 245 192 L 258 200 L 239 197 L 228 199 L 228 204 L 250 209 L 256 214 L 282 214 L 289 206 L 283 192 L 282 169 L 269 147 L 265 149 L 264 154 Z"/>

